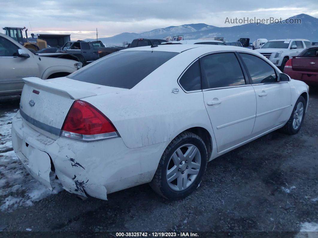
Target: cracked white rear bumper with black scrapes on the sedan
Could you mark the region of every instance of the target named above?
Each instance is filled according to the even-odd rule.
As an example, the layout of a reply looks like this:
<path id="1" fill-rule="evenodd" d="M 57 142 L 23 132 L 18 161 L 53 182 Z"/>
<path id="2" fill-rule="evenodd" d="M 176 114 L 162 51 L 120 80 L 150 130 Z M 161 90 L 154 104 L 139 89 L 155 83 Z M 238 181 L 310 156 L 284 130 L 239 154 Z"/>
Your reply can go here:
<path id="1" fill-rule="evenodd" d="M 52 189 L 49 174 L 55 170 L 66 191 L 103 200 L 108 193 L 150 182 L 169 144 L 129 149 L 121 138 L 51 139 L 35 129 L 19 112 L 12 120 L 13 149 L 30 174 Z"/>

